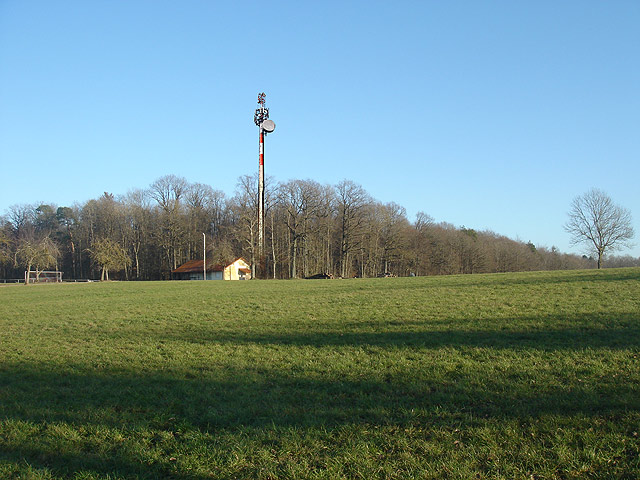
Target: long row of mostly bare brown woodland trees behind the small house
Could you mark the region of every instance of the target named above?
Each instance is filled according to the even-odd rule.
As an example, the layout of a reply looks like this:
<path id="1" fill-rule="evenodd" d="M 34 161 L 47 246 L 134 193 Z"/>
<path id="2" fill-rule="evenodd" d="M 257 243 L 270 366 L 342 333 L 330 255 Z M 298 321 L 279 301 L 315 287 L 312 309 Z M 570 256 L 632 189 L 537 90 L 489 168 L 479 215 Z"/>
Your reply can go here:
<path id="1" fill-rule="evenodd" d="M 0 217 L 0 278 L 25 270 L 61 270 L 65 279 L 166 280 L 203 257 L 226 264 L 244 257 L 266 278 L 443 275 L 593 268 L 565 254 L 490 231 L 413 221 L 350 181 L 267 179 L 265 249 L 258 251 L 255 176 L 229 197 L 209 185 L 168 175 L 126 195 L 104 193 L 71 207 L 14 205 Z M 640 259 L 616 258 L 616 266 Z"/>

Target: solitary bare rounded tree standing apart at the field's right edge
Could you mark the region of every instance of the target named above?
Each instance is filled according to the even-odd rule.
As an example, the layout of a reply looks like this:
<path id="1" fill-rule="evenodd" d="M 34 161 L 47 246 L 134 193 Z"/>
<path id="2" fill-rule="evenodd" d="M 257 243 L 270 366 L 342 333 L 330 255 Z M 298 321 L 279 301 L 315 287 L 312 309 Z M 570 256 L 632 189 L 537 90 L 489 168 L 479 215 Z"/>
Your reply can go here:
<path id="1" fill-rule="evenodd" d="M 606 251 L 629 246 L 634 235 L 631 212 L 597 188 L 573 199 L 564 229 L 572 245 L 584 244 L 598 254 L 598 268 Z"/>

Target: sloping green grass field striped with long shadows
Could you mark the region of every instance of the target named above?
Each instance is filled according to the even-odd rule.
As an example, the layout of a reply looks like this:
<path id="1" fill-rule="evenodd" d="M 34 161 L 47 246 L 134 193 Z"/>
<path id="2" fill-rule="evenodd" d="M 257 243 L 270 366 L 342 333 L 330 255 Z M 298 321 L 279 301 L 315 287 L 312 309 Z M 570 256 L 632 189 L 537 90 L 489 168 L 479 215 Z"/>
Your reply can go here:
<path id="1" fill-rule="evenodd" d="M 640 269 L 0 287 L 0 478 L 640 478 Z"/>

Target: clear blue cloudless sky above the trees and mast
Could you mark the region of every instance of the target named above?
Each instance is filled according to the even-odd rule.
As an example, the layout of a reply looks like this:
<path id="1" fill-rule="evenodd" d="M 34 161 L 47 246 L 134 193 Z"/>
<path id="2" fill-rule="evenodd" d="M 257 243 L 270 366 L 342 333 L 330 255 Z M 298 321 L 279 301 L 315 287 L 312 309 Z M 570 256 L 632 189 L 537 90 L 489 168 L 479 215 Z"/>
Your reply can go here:
<path id="1" fill-rule="evenodd" d="M 362 185 L 569 247 L 592 187 L 640 256 L 640 2 L 0 0 L 0 214 L 176 174 Z"/>

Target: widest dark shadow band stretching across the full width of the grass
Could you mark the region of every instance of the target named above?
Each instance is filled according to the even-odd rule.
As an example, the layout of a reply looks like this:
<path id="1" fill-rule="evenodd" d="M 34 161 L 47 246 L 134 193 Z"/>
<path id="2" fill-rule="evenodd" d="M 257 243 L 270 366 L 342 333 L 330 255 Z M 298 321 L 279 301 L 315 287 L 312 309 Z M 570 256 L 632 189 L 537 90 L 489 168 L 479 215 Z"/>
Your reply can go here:
<path id="1" fill-rule="evenodd" d="M 220 379 L 224 376 L 224 379 Z M 282 370 L 169 373 L 67 373 L 15 366 L 0 375 L 0 418 L 111 428 L 169 428 L 187 422 L 202 431 L 263 426 L 410 423 L 415 416 L 472 414 L 511 418 L 640 410 L 640 385 L 586 382 L 532 385 L 527 378 L 460 371 L 404 379 L 320 378 Z M 426 417 L 425 417 L 426 415 Z"/>

